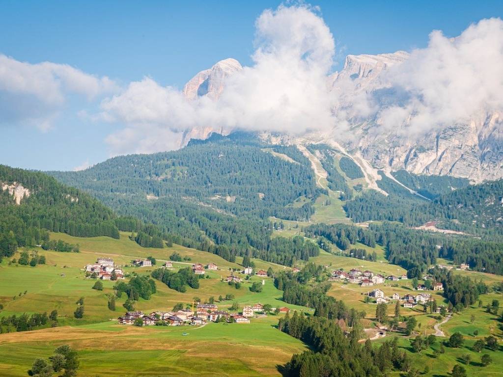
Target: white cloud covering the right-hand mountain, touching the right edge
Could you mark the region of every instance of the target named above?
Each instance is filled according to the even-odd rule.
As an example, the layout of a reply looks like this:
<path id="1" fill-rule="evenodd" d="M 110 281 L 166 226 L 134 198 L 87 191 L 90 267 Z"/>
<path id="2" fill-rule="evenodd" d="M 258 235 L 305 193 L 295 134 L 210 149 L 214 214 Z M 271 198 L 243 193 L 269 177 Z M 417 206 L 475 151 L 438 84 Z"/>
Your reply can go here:
<path id="1" fill-rule="evenodd" d="M 430 34 L 427 48 L 413 50 L 384 77 L 407 100 L 379 113 L 387 128 L 409 124 L 422 134 L 503 110 L 503 21 L 482 20 L 460 36 Z M 410 119 L 410 121 L 409 121 Z"/>

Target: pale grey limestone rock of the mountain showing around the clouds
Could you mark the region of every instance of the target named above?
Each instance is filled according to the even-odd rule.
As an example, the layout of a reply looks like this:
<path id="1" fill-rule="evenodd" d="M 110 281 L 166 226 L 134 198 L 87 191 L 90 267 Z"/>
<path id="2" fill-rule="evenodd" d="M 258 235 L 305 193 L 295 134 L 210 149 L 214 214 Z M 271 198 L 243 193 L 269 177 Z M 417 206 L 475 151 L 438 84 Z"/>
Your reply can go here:
<path id="1" fill-rule="evenodd" d="M 404 51 L 348 55 L 344 68 L 328 76 L 326 83 L 328 91 L 338 91 L 339 102 L 334 104 L 333 112 L 347 114 L 345 121 L 351 131 L 345 134 L 339 131 L 315 133 L 296 140 L 284 135 L 280 140 L 296 144 L 337 143 L 350 157 L 363 158 L 373 168 L 453 175 L 474 182 L 503 178 L 503 109 L 492 114 L 481 111 L 471 119 L 420 136 L 410 136 L 406 132 L 407 122 L 401 129 L 389 129 L 382 127 L 383 122 L 376 113 L 368 117 L 352 114 L 351 108 L 359 95 L 373 96 L 380 108 L 401 101 L 385 77 L 389 69 L 404 62 L 408 56 Z M 222 60 L 194 76 L 185 85 L 185 96 L 188 100 L 206 96 L 218 101 L 220 93 L 225 90 L 225 79 L 241 69 L 237 60 Z M 337 130 L 336 125 L 334 129 Z M 222 128 L 194 128 L 184 133 L 180 146 L 185 146 L 191 138 L 205 139 L 212 132 L 225 133 Z"/>

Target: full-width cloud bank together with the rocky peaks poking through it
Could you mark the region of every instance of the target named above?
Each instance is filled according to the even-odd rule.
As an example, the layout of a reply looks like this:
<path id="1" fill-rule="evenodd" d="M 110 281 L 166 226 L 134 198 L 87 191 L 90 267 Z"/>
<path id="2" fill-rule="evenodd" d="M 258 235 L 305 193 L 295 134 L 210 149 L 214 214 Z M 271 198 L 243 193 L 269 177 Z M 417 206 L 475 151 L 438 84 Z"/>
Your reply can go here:
<path id="1" fill-rule="evenodd" d="M 253 64 L 222 60 L 184 90 L 150 77 L 119 87 L 65 64 L 0 55 L 0 124 L 47 130 L 76 96 L 85 100 L 80 114 L 114 125 L 106 139 L 112 155 L 175 149 L 190 137 L 236 129 L 351 139 L 352 127 L 369 123 L 369 133 L 419 138 L 488 115 L 499 124 L 500 19 L 455 38 L 433 31 L 426 48 L 410 53 L 348 56 L 334 73 L 334 38 L 317 8 L 265 10 L 255 27 Z"/>

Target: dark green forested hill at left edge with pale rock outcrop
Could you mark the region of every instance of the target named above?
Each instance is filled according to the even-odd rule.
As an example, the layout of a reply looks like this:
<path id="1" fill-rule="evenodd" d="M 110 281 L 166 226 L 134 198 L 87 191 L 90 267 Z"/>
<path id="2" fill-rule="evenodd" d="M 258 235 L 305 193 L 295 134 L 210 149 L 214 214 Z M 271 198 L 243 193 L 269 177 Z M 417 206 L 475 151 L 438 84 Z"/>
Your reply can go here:
<path id="1" fill-rule="evenodd" d="M 47 174 L 0 165 L 0 188 L 0 256 L 48 241 L 48 231 L 119 238 L 110 209 Z"/>

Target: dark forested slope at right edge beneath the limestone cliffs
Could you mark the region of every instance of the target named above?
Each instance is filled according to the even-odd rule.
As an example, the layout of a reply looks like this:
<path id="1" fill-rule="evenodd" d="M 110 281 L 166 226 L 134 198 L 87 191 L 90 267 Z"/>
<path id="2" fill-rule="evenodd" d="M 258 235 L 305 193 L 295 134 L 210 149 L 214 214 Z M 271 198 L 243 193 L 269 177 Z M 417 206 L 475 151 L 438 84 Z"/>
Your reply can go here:
<path id="1" fill-rule="evenodd" d="M 400 178 L 403 176 L 403 173 L 397 175 Z M 412 176 L 411 179 L 417 177 Z M 430 196 L 445 192 L 445 187 L 451 187 L 453 183 L 453 178 L 421 179 L 431 181 L 429 194 L 423 191 Z M 440 180 L 445 180 L 445 184 L 441 184 Z M 420 226 L 435 221 L 438 228 L 462 231 L 488 240 L 503 239 L 503 180 L 469 185 L 454 191 L 449 189 L 451 192 L 438 195 L 432 201 L 413 196 L 390 178 L 385 177 L 379 182 L 380 187 L 389 193 L 388 196 L 367 191 L 346 203 L 345 210 L 355 222 L 388 220 L 400 221 L 406 226 Z"/>

